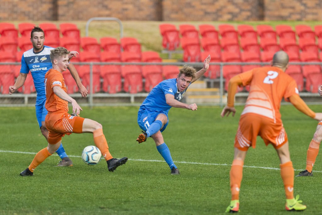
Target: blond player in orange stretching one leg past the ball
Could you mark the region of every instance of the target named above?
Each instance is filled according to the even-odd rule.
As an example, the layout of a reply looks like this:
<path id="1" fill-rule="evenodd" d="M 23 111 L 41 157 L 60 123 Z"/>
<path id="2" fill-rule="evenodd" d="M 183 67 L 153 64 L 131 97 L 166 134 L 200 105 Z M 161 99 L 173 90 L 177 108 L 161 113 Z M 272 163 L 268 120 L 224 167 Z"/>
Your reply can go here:
<path id="1" fill-rule="evenodd" d="M 109 147 L 103 134 L 102 125 L 91 119 L 71 116 L 68 114 L 68 102 L 72 105 L 72 111 L 79 115 L 82 110 L 75 99 L 67 94 L 66 85 L 62 72 L 67 70 L 69 65 L 69 51 L 58 47 L 50 51 L 52 69 L 45 75 L 46 104 L 48 114 L 45 124 L 49 131 L 48 146 L 40 150 L 34 157 L 27 169 L 20 173 L 21 176 L 32 176 L 34 169 L 47 157 L 52 155 L 60 146 L 62 137 L 71 133 L 92 133 L 95 145 L 104 156 L 109 171 L 113 172 L 118 166 L 125 164 L 127 157 L 115 159 L 109 153 Z"/>

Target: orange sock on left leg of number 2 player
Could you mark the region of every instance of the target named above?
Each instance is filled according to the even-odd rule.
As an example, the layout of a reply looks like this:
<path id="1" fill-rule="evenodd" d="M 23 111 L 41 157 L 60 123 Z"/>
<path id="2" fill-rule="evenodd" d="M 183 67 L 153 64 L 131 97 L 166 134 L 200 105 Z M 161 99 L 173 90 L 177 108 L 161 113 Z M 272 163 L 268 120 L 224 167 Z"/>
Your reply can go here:
<path id="1" fill-rule="evenodd" d="M 232 192 L 232 200 L 239 199 L 239 190 L 242 183 L 242 160 L 233 160 L 232 168 L 230 169 L 230 190 Z"/>

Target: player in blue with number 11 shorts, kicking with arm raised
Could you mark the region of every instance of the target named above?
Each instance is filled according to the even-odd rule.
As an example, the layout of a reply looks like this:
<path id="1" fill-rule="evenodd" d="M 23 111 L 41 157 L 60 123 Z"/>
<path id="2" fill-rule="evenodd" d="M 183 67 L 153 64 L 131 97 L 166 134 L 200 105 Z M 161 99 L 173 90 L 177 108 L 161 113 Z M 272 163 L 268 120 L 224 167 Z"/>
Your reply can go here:
<path id="1" fill-rule="evenodd" d="M 196 72 L 191 66 L 183 66 L 176 79 L 167 79 L 156 85 L 143 101 L 137 115 L 137 123 L 144 131 L 137 138 L 138 143 L 145 142 L 148 137 L 156 143 L 156 149 L 171 169 L 172 175 L 180 172 L 174 164 L 170 150 L 163 140 L 161 132 L 168 125 L 168 112 L 171 107 L 197 110 L 196 104 L 187 105 L 180 102 L 191 83 L 198 80 L 209 68 L 210 55 L 204 60 L 204 68 Z"/>

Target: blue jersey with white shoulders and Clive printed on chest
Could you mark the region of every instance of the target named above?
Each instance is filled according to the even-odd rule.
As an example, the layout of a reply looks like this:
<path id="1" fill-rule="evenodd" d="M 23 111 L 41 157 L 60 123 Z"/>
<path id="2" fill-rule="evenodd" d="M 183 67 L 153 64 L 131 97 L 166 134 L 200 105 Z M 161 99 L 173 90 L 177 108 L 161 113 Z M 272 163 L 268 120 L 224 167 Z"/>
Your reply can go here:
<path id="1" fill-rule="evenodd" d="M 29 73 L 33 76 L 33 84 L 37 91 L 37 100 L 46 98 L 45 95 L 45 74 L 52 69 L 52 61 L 50 60 L 50 50 L 54 48 L 43 46 L 40 52 L 33 52 L 33 49 L 25 51 L 21 58 L 21 73 Z"/>

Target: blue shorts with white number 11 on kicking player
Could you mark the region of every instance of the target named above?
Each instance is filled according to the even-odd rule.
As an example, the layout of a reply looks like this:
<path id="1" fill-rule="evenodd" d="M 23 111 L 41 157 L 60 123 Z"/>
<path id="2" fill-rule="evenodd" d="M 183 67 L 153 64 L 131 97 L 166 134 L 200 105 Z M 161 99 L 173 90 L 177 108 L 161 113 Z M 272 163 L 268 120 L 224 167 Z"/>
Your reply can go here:
<path id="1" fill-rule="evenodd" d="M 159 114 L 164 114 L 168 118 L 168 121 L 166 122 L 166 125 L 164 125 L 163 128 L 160 130 L 161 132 L 163 132 L 166 129 L 166 126 L 169 123 L 169 117 L 164 112 L 149 111 L 147 109 L 141 109 L 137 113 L 137 124 L 140 126 L 140 128 L 143 131 L 147 131 L 148 127 L 156 120 L 156 117 Z"/>

